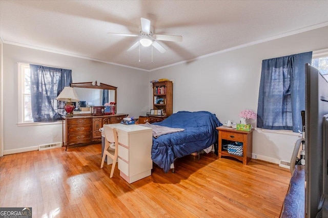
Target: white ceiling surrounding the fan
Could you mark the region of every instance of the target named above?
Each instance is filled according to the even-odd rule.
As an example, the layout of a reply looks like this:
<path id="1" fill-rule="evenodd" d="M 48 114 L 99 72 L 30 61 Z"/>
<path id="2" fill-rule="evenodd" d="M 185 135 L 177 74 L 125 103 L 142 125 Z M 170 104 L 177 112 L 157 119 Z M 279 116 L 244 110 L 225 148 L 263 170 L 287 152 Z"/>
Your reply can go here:
<path id="1" fill-rule="evenodd" d="M 154 70 L 235 47 L 328 26 L 328 1 L 0 1 L 4 43 Z M 141 47 L 140 17 L 157 34 L 182 35 L 160 41 L 166 53 Z M 328 38 L 328 37 L 327 37 Z"/>

